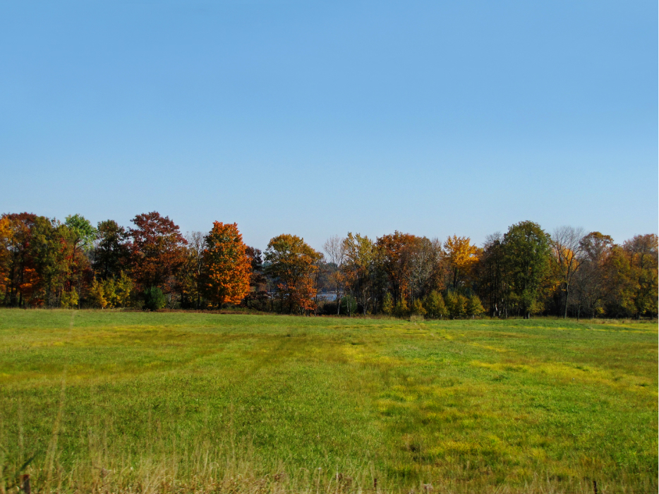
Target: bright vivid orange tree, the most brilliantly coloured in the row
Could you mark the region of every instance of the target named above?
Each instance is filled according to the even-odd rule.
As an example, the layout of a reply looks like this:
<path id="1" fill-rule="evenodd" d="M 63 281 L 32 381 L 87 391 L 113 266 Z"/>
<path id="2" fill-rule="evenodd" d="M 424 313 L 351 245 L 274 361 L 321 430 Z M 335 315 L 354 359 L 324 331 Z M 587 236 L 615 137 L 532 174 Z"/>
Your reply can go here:
<path id="1" fill-rule="evenodd" d="M 239 303 L 250 289 L 252 265 L 238 225 L 213 222 L 203 253 L 202 287 L 212 304 Z"/>

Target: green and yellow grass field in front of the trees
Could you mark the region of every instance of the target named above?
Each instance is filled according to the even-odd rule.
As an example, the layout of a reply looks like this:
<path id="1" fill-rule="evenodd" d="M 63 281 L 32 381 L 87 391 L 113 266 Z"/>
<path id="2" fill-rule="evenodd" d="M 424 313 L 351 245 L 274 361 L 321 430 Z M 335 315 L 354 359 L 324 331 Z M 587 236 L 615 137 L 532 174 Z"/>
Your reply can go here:
<path id="1" fill-rule="evenodd" d="M 1 310 L 0 492 L 656 492 L 657 399 L 656 323 Z"/>

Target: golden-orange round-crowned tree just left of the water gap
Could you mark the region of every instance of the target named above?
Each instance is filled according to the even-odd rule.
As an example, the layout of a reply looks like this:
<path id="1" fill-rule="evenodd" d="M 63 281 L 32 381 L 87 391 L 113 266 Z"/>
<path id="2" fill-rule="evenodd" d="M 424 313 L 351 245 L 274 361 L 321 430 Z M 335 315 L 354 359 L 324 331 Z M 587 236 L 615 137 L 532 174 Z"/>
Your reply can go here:
<path id="1" fill-rule="evenodd" d="M 274 237 L 265 251 L 265 272 L 274 278 L 282 311 L 315 309 L 316 277 L 322 254 L 296 235 Z"/>

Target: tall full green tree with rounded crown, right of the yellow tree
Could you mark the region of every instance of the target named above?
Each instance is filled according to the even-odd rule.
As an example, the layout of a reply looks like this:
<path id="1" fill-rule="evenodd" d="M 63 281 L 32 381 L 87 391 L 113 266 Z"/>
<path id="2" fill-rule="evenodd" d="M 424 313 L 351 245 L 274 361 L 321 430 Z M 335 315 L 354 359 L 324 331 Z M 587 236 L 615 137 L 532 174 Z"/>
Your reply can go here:
<path id="1" fill-rule="evenodd" d="M 504 235 L 504 263 L 512 295 L 524 318 L 538 308 L 550 263 L 550 236 L 533 222 L 512 225 Z"/>

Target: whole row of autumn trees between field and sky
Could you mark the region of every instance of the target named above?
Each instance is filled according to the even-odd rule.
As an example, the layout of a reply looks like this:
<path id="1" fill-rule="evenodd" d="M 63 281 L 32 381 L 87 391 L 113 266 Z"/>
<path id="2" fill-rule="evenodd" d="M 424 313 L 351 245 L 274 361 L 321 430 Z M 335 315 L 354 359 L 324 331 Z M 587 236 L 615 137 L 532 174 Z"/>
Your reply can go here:
<path id="1" fill-rule="evenodd" d="M 295 314 L 426 318 L 641 318 L 658 312 L 658 237 L 616 244 L 598 231 L 551 234 L 525 221 L 476 246 L 394 231 L 332 236 L 323 252 L 282 234 L 265 251 L 237 225 L 183 236 L 158 212 L 132 227 L 31 213 L 0 217 L 0 304 L 10 307 L 240 306 Z"/>

